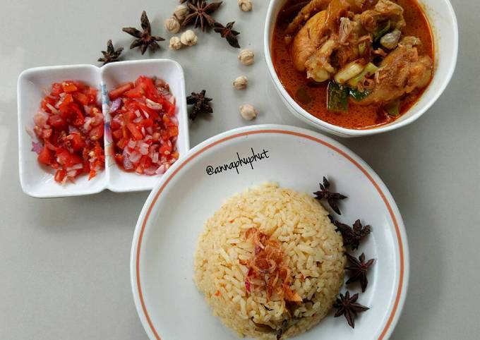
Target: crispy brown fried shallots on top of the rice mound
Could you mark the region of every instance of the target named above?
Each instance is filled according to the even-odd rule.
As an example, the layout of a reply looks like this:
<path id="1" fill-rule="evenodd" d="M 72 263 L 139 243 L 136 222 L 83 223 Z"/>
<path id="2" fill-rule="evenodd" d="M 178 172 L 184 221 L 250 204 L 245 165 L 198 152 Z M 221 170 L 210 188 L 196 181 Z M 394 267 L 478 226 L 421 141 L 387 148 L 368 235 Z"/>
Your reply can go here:
<path id="1" fill-rule="evenodd" d="M 285 301 L 301 302 L 299 294 L 290 289 L 291 271 L 280 242 L 271 240 L 257 228 L 248 229 L 245 239 L 252 241 L 255 246 L 254 255 L 250 260 L 240 260 L 241 265 L 248 267 L 245 278 L 246 291 L 250 293 L 251 289 L 265 289 L 267 300 L 275 296 Z"/>

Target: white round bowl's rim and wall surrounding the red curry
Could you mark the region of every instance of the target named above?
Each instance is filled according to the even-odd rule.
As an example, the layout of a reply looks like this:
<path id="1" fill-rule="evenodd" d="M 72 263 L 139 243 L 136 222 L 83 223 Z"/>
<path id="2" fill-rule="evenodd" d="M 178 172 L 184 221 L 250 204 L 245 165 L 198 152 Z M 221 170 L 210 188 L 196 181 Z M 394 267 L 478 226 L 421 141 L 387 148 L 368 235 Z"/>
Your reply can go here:
<path id="1" fill-rule="evenodd" d="M 279 92 L 280 97 L 287 105 L 289 111 L 311 126 L 334 135 L 339 135 L 340 137 L 361 137 L 395 130 L 419 119 L 419 117 L 436 102 L 445 90 L 445 87 L 450 83 L 450 79 L 455 71 L 458 54 L 458 26 L 455 12 L 449 0 L 419 0 L 419 4 L 424 9 L 432 28 L 436 66 L 433 80 L 419 101 L 396 121 L 377 128 L 356 130 L 342 128 L 322 121 L 309 114 L 308 111 L 302 109 L 300 105 L 294 101 L 284 89 L 273 67 L 272 56 L 270 54 L 273 29 L 275 28 L 277 15 L 286 1 L 287 0 L 270 0 L 263 37 L 265 61 L 267 62 L 268 71 L 270 72 L 277 92 Z"/>

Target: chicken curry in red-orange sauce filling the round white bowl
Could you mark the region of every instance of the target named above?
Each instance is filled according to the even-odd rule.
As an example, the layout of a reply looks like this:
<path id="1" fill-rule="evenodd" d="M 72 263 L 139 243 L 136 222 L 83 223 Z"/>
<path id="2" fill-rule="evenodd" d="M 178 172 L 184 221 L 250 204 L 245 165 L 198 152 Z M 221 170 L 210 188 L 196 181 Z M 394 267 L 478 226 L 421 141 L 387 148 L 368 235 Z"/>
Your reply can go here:
<path id="1" fill-rule="evenodd" d="M 433 38 L 416 0 L 289 0 L 272 59 L 289 95 L 344 128 L 390 123 L 433 75 Z"/>

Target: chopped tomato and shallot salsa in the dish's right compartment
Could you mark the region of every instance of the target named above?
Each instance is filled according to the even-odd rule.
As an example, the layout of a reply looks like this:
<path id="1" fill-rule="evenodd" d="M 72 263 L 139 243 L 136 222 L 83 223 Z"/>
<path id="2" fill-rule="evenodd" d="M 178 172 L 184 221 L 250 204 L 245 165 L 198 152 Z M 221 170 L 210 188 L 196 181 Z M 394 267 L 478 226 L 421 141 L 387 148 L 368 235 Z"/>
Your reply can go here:
<path id="1" fill-rule="evenodd" d="M 109 92 L 116 163 L 137 174 L 163 174 L 179 159 L 175 98 L 161 79 L 138 77 Z"/>

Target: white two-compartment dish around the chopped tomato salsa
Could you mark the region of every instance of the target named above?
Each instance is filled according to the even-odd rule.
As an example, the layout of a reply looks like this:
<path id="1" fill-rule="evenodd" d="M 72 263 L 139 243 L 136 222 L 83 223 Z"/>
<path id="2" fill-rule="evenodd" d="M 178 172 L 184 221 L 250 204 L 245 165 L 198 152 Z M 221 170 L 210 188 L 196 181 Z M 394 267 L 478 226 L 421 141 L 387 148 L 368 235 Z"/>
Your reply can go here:
<path id="1" fill-rule="evenodd" d="M 33 116 L 40 107 L 44 90 L 49 90 L 54 82 L 72 79 L 81 80 L 99 89 L 107 132 L 110 121 L 108 91 L 120 83 L 136 80 L 139 75 L 156 75 L 169 83 L 178 107 L 176 115 L 179 120 L 179 138 L 176 146 L 180 157 L 188 151 L 184 71 L 176 61 L 169 59 L 120 61 L 109 63 L 101 68 L 92 65 L 30 68 L 18 77 L 18 169 L 23 192 L 36 198 L 54 198 L 99 193 L 106 188 L 115 192 L 127 192 L 150 190 L 155 186 L 160 176 L 128 173 L 117 166 L 112 152 L 108 152 L 112 144 L 109 133 L 104 133 L 105 170 L 90 181 L 88 176 L 79 176 L 76 178 L 76 183 L 61 186 L 54 181 L 53 169 L 37 162 L 37 154 L 30 151 L 32 138 L 25 131 L 26 128 L 34 126 Z"/>

